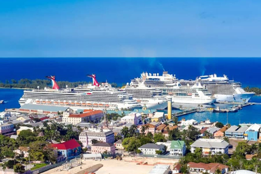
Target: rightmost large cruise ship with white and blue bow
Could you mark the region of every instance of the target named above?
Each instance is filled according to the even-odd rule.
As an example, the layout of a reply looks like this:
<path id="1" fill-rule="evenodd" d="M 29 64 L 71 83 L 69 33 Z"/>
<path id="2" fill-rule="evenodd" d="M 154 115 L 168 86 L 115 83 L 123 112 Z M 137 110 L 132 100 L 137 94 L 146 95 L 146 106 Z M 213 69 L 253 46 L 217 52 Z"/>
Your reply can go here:
<path id="1" fill-rule="evenodd" d="M 248 102 L 255 93 L 248 93 L 241 87 L 241 83 L 229 80 L 226 75 L 218 77 L 216 74 L 199 76 L 196 80 L 217 98 L 217 102 Z M 193 84 L 195 80 L 180 80 L 183 85 Z"/>

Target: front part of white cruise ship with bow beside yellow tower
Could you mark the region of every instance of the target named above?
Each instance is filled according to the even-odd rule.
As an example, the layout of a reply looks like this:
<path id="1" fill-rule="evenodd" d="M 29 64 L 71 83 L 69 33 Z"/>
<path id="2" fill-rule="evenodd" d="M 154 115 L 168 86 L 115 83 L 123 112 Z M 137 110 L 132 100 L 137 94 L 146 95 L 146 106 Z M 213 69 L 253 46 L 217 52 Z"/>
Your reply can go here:
<path id="1" fill-rule="evenodd" d="M 143 83 L 130 86 L 128 83 L 124 90 L 133 96 L 139 104 L 148 109 L 165 109 L 168 105 L 167 99 L 162 96 L 162 91 L 146 87 Z"/>

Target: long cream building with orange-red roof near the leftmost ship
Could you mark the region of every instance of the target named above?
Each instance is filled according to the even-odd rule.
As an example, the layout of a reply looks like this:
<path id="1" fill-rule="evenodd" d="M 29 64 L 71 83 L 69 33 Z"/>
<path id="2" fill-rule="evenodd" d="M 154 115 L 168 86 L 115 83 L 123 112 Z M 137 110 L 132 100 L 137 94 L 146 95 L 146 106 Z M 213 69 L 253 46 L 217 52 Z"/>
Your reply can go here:
<path id="1" fill-rule="evenodd" d="M 78 124 L 80 122 L 97 122 L 104 116 L 102 110 L 92 110 L 84 113 L 70 113 L 64 112 L 62 122 L 68 122 L 73 125 Z"/>

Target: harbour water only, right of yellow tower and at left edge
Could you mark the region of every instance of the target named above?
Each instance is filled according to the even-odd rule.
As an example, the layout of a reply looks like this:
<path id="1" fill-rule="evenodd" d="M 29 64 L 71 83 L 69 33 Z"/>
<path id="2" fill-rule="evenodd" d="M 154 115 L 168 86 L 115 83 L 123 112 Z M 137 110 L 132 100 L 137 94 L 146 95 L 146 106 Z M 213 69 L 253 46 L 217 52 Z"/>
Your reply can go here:
<path id="1" fill-rule="evenodd" d="M 19 108 L 18 100 L 23 95 L 23 90 L 19 89 L 1 89 L 0 88 L 0 100 L 5 100 L 4 104 L 0 104 L 0 111 L 5 108 Z M 255 96 L 251 99 L 251 102 L 260 102 L 261 97 Z M 215 105 L 213 105 L 215 106 Z M 227 108 L 231 105 L 218 104 L 221 108 Z M 239 123 L 261 123 L 261 105 L 246 106 L 242 110 L 235 113 L 228 114 L 228 121 L 230 124 L 238 125 Z M 173 110 L 178 112 L 179 110 Z M 210 119 L 212 122 L 218 121 L 226 124 L 226 113 L 212 113 L 205 111 L 203 113 L 192 113 L 184 116 L 186 119 L 195 119 L 197 121 L 203 121 Z M 182 117 L 179 117 L 181 120 Z"/>

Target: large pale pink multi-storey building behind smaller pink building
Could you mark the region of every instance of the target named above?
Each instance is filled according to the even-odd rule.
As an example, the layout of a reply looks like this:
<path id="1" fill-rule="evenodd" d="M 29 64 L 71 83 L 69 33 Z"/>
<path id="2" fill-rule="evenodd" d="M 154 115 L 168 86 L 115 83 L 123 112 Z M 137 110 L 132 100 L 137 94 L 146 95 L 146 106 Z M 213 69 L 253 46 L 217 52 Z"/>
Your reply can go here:
<path id="1" fill-rule="evenodd" d="M 92 145 L 92 140 L 96 139 L 99 142 L 114 143 L 114 133 L 110 129 L 102 128 L 89 128 L 86 131 L 82 131 L 79 135 L 79 141 L 81 141 L 84 147 Z"/>

